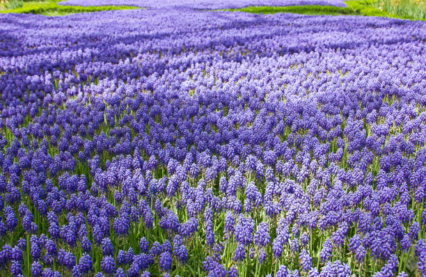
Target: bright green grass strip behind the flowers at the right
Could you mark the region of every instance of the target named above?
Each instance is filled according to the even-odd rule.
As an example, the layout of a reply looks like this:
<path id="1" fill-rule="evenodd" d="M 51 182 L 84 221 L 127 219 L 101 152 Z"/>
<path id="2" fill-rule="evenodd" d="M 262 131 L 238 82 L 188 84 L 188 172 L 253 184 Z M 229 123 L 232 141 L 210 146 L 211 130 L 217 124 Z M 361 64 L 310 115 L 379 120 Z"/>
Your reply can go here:
<path id="1" fill-rule="evenodd" d="M 380 0 L 380 1 L 398 1 L 398 0 Z M 400 0 L 416 1 L 416 0 Z M 417 0 L 419 1 L 419 0 Z M 424 0 L 421 0 L 424 1 Z M 271 7 L 271 6 L 251 6 L 246 8 L 229 9 L 230 11 L 242 11 L 246 13 L 297 13 L 303 15 L 363 15 L 363 16 L 380 16 L 393 17 L 400 19 L 425 20 L 426 13 L 397 13 L 395 10 L 384 8 L 379 5 L 377 0 L 361 0 L 361 1 L 345 1 L 347 8 L 335 6 L 286 6 L 286 7 Z M 416 6 L 411 6 L 411 10 L 421 10 Z M 406 8 L 407 10 L 407 8 Z"/>

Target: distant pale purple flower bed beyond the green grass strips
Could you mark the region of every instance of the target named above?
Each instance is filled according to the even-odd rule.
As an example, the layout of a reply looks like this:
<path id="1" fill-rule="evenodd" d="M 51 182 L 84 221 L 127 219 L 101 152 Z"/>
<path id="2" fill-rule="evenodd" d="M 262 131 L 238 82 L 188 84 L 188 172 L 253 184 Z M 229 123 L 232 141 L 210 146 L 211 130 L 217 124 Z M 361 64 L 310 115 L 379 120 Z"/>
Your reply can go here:
<path id="1" fill-rule="evenodd" d="M 191 9 L 223 9 L 244 8 L 247 6 L 305 6 L 321 5 L 346 7 L 342 0 L 184 0 L 184 1 L 157 1 L 157 0 L 67 0 L 59 5 L 70 6 L 137 6 L 143 8 L 191 8 Z"/>

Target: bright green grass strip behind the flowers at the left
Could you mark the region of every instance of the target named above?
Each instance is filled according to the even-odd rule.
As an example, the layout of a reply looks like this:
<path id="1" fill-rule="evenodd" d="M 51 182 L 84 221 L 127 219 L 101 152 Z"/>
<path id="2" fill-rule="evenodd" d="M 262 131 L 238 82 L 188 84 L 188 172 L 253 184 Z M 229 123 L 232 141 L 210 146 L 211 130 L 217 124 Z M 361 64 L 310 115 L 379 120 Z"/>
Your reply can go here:
<path id="1" fill-rule="evenodd" d="M 102 10 L 129 10 L 139 7 L 134 6 L 61 6 L 56 1 L 30 1 L 24 2 L 22 7 L 0 10 L 0 13 L 32 13 L 35 15 L 70 15 L 72 13 L 91 13 Z"/>

